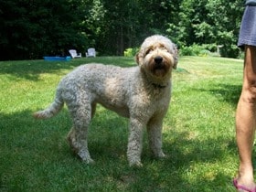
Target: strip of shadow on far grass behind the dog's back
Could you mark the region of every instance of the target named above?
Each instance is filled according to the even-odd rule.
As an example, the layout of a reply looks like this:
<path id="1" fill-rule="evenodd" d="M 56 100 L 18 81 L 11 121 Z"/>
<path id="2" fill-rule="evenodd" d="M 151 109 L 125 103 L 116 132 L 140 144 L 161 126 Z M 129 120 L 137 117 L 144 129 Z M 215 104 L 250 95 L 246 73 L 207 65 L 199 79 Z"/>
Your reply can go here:
<path id="1" fill-rule="evenodd" d="M 121 67 L 130 67 L 135 65 L 133 58 L 123 57 L 82 58 L 72 59 L 70 61 L 0 61 L 0 74 L 12 75 L 17 79 L 38 80 L 39 74 L 58 73 L 60 69 L 71 70 L 81 64 L 92 62 L 118 65 Z"/>

